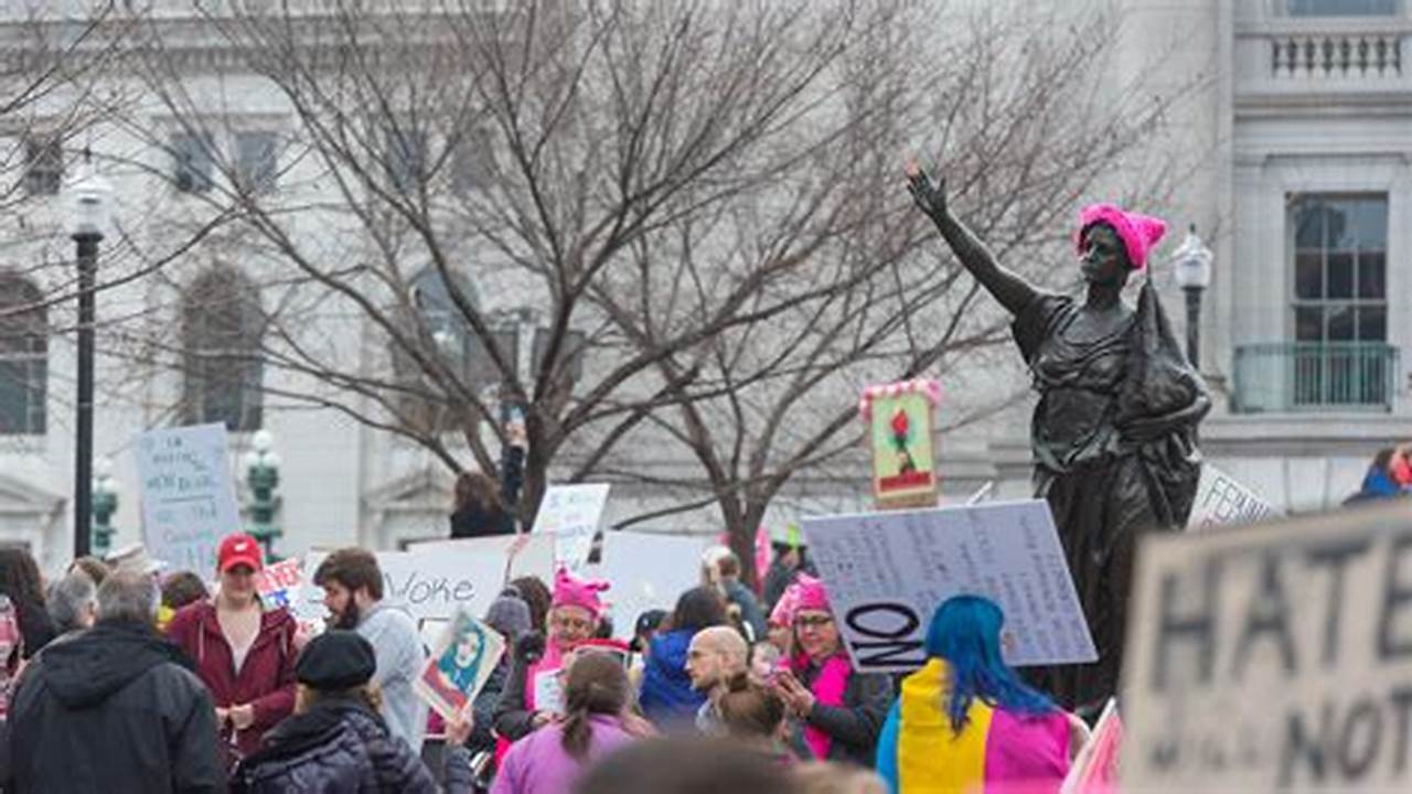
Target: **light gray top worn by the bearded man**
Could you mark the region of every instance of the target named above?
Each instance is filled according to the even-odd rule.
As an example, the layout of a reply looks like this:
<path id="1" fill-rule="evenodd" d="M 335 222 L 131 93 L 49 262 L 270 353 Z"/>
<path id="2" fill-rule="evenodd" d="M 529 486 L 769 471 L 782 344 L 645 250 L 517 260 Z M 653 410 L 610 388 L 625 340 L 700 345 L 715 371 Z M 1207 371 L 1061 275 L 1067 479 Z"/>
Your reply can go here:
<path id="1" fill-rule="evenodd" d="M 383 689 L 387 729 L 407 740 L 414 753 L 421 753 L 426 736 L 426 701 L 417 697 L 412 681 L 426 663 L 426 648 L 417 623 L 405 609 L 377 602 L 359 620 L 357 633 L 373 644 L 377 656 L 373 681 Z"/>

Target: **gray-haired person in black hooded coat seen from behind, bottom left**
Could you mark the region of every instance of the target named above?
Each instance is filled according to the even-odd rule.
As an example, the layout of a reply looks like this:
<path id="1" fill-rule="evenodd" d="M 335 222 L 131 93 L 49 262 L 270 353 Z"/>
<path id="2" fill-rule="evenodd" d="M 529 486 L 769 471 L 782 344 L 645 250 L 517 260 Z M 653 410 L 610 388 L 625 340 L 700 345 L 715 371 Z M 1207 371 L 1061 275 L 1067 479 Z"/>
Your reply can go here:
<path id="1" fill-rule="evenodd" d="M 151 576 L 113 572 L 93 629 L 34 660 L 10 712 L 6 791 L 225 791 L 210 697 L 155 617 Z"/>

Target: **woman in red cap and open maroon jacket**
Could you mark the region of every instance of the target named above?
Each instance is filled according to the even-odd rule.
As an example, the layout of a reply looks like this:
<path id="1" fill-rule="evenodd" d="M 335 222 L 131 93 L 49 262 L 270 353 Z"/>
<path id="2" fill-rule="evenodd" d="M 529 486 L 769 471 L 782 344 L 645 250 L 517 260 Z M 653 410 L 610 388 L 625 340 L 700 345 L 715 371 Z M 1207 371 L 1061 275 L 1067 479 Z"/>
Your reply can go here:
<path id="1" fill-rule="evenodd" d="M 284 608 L 265 610 L 256 593 L 260 544 L 247 534 L 220 541 L 220 589 L 209 600 L 184 606 L 167 636 L 196 663 L 210 689 L 216 725 L 237 759 L 260 746 L 260 736 L 294 711 L 298 624 Z"/>

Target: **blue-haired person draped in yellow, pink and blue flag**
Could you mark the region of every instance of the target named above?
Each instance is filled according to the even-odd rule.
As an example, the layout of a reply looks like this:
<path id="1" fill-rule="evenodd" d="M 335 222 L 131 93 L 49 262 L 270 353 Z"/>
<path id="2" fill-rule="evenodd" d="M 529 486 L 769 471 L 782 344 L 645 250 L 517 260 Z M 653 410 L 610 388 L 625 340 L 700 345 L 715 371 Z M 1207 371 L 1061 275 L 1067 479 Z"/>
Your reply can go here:
<path id="1" fill-rule="evenodd" d="M 932 615 L 926 664 L 902 681 L 877 766 L 894 794 L 1055 791 L 1087 729 L 1001 660 L 1004 613 L 955 596 Z"/>

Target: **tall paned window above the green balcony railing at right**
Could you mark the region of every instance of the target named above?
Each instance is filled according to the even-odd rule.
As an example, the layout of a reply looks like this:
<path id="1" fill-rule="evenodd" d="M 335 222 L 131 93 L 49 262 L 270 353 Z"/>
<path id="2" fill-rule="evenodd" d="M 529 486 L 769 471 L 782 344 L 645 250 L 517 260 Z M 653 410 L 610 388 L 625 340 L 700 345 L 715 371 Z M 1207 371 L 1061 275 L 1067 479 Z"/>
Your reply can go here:
<path id="1" fill-rule="evenodd" d="M 1289 202 L 1295 404 L 1385 400 L 1387 194 L 1303 194 Z"/>

